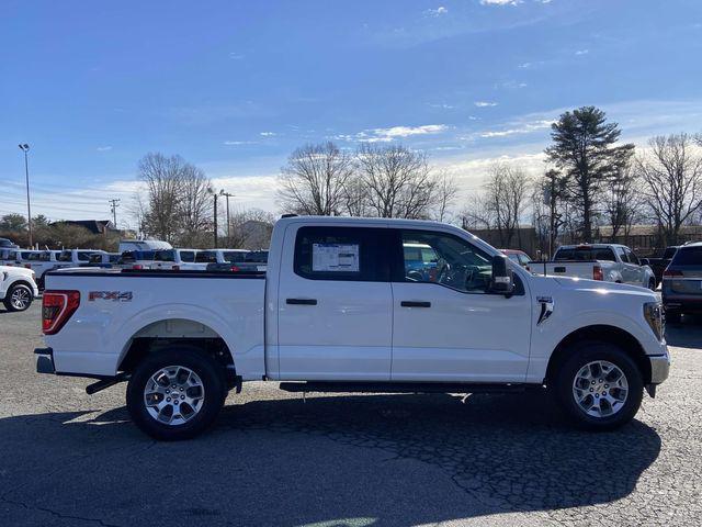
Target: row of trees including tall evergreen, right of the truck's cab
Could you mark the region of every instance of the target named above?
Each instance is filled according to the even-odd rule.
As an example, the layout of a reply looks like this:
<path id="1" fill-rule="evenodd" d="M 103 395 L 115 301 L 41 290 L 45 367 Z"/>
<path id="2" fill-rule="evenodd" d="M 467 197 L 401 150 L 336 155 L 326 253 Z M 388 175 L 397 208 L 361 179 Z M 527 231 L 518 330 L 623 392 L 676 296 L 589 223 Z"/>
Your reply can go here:
<path id="1" fill-rule="evenodd" d="M 507 247 L 519 244 L 531 213 L 544 247 L 564 237 L 591 243 L 600 226 L 627 237 L 638 223 L 657 226 L 664 244 L 678 244 L 682 227 L 702 220 L 702 136 L 655 136 L 638 153 L 620 136 L 619 124 L 595 106 L 563 113 L 552 125 L 544 173 L 495 164 L 467 200 L 464 226 L 495 229 Z"/>

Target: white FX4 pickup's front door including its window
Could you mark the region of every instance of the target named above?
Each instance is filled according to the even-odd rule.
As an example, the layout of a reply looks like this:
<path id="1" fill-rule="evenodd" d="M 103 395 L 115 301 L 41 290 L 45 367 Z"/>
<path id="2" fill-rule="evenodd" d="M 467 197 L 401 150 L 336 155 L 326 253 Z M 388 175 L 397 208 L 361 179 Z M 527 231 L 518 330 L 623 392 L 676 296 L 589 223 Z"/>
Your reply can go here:
<path id="1" fill-rule="evenodd" d="M 450 233 L 397 232 L 400 272 L 393 272 L 392 379 L 523 382 L 529 366 L 532 305 L 524 284 L 511 298 L 487 292 L 491 259 Z M 424 269 L 417 247 L 435 254 Z"/>

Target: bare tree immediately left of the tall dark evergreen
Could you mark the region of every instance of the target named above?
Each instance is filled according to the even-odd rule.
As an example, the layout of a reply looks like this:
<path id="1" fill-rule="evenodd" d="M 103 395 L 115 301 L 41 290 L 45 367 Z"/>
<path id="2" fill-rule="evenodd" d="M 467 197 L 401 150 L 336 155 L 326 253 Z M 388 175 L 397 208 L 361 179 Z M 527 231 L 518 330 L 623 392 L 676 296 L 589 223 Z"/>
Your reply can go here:
<path id="1" fill-rule="evenodd" d="M 500 244 L 509 247 L 517 234 L 519 222 L 524 213 L 530 189 L 530 178 L 521 169 L 496 162 L 489 169 L 485 182 L 485 200 L 492 211 L 495 228 L 498 231 Z"/>

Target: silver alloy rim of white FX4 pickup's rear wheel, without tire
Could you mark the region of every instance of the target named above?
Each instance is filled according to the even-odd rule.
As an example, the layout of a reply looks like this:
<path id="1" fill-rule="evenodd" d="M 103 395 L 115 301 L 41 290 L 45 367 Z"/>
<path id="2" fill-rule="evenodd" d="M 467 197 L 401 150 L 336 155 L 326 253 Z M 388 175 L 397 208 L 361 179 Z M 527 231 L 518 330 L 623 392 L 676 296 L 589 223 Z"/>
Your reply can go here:
<path id="1" fill-rule="evenodd" d="M 205 401 L 205 386 L 190 368 L 167 366 L 147 381 L 144 404 L 159 423 L 176 426 L 192 419 Z"/>

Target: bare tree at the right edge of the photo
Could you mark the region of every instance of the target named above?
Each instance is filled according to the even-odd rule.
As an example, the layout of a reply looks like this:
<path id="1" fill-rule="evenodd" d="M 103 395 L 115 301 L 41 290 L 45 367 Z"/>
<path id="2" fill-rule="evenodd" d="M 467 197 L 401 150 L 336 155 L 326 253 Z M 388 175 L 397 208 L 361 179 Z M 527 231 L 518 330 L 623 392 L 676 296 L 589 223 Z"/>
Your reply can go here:
<path id="1" fill-rule="evenodd" d="M 652 137 L 648 146 L 636 170 L 666 243 L 675 245 L 680 226 L 702 208 L 702 155 L 684 133 Z"/>

